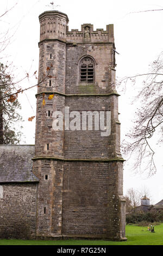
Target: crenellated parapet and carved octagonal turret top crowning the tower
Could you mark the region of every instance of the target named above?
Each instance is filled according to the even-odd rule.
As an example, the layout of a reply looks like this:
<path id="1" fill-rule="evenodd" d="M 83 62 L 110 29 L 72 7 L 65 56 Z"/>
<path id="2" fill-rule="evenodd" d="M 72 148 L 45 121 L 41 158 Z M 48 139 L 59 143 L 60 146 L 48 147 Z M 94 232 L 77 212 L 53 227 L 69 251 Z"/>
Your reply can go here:
<path id="1" fill-rule="evenodd" d="M 106 31 L 98 28 L 93 31 L 93 25 L 84 23 L 81 31 L 68 31 L 68 17 L 60 11 L 45 11 L 39 16 L 40 41 L 45 39 L 59 39 L 70 43 L 82 42 L 111 42 L 114 43 L 114 25 L 106 25 Z"/>

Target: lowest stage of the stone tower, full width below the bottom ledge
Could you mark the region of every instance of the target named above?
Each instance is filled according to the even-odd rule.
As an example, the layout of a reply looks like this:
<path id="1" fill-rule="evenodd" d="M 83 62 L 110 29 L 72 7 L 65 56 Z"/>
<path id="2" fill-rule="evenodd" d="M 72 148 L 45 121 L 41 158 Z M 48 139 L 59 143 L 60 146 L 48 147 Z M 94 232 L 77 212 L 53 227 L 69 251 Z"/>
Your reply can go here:
<path id="1" fill-rule="evenodd" d="M 121 162 L 40 159 L 33 172 L 40 179 L 37 237 L 121 239 Z"/>

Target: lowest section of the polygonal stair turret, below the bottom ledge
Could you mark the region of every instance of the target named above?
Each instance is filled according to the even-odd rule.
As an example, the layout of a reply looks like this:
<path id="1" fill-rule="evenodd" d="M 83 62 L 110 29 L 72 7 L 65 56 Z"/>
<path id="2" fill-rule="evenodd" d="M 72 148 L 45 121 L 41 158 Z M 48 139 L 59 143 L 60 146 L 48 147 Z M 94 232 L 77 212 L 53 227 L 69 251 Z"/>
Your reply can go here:
<path id="1" fill-rule="evenodd" d="M 63 166 L 63 162 L 51 159 L 34 161 L 33 172 L 40 179 L 36 214 L 38 237 L 61 234 Z"/>

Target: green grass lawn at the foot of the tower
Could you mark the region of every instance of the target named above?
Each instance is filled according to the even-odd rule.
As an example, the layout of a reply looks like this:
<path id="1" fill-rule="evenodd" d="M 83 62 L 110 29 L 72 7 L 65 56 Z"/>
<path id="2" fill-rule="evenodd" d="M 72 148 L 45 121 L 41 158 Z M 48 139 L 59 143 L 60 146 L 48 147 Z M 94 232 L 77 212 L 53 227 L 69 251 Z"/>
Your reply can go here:
<path id="1" fill-rule="evenodd" d="M 163 245 L 163 223 L 156 225 L 155 233 L 147 227 L 126 226 L 127 241 L 104 240 L 0 240 L 0 245 Z"/>

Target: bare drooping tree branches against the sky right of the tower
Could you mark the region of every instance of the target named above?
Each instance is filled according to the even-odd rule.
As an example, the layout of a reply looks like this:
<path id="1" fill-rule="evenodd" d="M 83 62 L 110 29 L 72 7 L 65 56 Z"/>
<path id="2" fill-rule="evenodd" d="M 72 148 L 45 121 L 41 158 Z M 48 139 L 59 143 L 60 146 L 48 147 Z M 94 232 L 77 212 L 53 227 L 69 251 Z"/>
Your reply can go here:
<path id="1" fill-rule="evenodd" d="M 150 176 L 156 172 L 152 138 L 157 132 L 159 139 L 156 143 L 162 143 L 163 135 L 163 52 L 150 65 L 147 74 L 124 77 L 118 85 L 123 84 L 123 88 L 127 88 L 129 83 L 134 88 L 138 77 L 144 79 L 141 89 L 132 102 L 136 108 L 135 121 L 122 143 L 122 151 L 125 156 L 134 154 L 134 169 L 137 172 L 148 170 Z"/>

